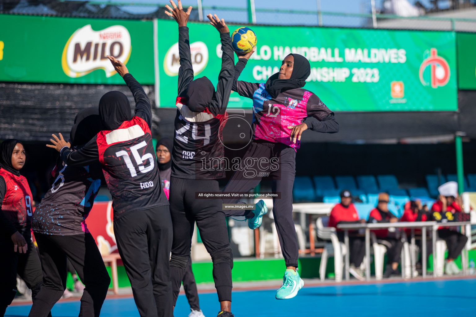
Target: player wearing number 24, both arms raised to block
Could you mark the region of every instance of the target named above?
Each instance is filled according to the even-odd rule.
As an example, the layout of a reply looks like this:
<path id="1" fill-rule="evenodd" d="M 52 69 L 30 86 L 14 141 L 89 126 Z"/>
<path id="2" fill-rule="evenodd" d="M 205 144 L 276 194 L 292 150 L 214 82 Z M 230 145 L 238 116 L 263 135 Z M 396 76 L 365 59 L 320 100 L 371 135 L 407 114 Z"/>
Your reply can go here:
<path id="1" fill-rule="evenodd" d="M 200 237 L 213 261 L 213 279 L 220 302 L 220 317 L 231 315 L 231 268 L 233 254 L 229 247 L 228 230 L 221 199 L 195 199 L 195 192 L 219 192 L 218 181 L 225 177 L 225 171 L 218 166 L 202 166 L 202 159 L 223 158 L 221 142 L 223 121 L 227 118 L 226 107 L 234 76 L 233 48 L 228 27 L 217 15 L 208 15 L 211 23 L 220 33 L 222 54 L 221 71 L 218 76 L 217 91 L 207 77 L 193 80 L 190 57 L 187 12 L 170 1 L 174 9 L 166 6 L 178 23 L 178 70 L 177 115 L 175 117 L 175 138 L 172 152 L 170 180 L 170 213 L 174 228 L 170 274 L 177 300 L 182 276 L 188 262 L 191 238 L 197 222 Z M 213 160 L 210 160 L 213 161 Z"/>

